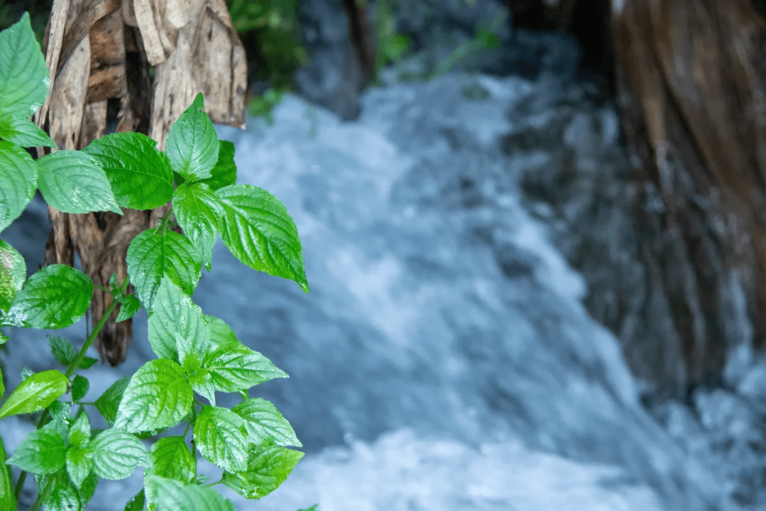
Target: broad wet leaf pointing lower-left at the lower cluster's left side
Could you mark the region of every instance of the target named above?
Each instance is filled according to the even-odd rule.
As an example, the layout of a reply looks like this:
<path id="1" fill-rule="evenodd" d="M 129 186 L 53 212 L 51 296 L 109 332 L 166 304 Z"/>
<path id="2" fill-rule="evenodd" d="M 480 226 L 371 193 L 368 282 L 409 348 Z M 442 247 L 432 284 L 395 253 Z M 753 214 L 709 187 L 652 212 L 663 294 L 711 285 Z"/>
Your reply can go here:
<path id="1" fill-rule="evenodd" d="M 173 427 L 191 411 L 194 390 L 176 362 L 150 360 L 130 378 L 115 427 L 130 433 Z"/>

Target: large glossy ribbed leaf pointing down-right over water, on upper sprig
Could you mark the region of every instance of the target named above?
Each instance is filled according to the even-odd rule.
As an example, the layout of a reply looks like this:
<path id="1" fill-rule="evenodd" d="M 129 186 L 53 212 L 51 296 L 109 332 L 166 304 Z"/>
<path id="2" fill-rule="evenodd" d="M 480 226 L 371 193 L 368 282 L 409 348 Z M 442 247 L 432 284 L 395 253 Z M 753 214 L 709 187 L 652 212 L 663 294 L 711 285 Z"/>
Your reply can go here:
<path id="1" fill-rule="evenodd" d="M 254 270 L 295 280 L 308 292 L 298 229 L 287 208 L 266 190 L 231 185 L 215 192 L 224 204 L 221 237 Z"/>

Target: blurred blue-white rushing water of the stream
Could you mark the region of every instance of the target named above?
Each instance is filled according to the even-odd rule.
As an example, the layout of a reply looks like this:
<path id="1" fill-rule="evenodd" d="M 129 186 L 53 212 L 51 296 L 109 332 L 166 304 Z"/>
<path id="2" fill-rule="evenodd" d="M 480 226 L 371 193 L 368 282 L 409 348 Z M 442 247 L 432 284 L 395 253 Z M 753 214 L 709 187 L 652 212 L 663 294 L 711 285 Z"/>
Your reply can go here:
<path id="1" fill-rule="evenodd" d="M 580 303 L 584 281 L 522 207 L 514 176 L 529 161 L 499 151 L 506 112 L 555 89 L 545 80 L 370 90 L 355 123 L 288 96 L 273 125 L 218 129 L 240 182 L 295 218 L 311 286 L 219 244 L 194 296 L 291 375 L 250 394 L 274 401 L 308 452 L 280 490 L 237 509 L 719 509 L 719 485 L 637 404 L 617 341 Z M 35 204 L 4 237 L 38 264 L 45 235 Z M 86 373 L 89 397 L 153 358 L 146 316 L 135 321 L 126 363 Z M 11 332 L 9 385 L 21 364 L 47 369 L 46 352 L 37 332 Z M 0 422 L 7 447 L 29 427 Z M 139 485 L 139 473 L 100 483 L 89 509 L 120 509 Z"/>

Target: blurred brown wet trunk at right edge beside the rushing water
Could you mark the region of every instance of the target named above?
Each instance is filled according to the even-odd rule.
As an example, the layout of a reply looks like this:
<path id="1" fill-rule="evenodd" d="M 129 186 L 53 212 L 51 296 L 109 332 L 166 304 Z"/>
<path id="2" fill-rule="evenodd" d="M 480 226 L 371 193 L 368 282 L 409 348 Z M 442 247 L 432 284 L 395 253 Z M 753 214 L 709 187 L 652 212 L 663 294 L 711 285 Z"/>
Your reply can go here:
<path id="1" fill-rule="evenodd" d="M 766 24 L 749 0 L 627 0 L 612 28 L 624 133 L 665 205 L 665 247 L 647 258 L 675 313 L 684 366 L 672 369 L 715 381 L 731 347 L 728 270 L 766 339 Z"/>

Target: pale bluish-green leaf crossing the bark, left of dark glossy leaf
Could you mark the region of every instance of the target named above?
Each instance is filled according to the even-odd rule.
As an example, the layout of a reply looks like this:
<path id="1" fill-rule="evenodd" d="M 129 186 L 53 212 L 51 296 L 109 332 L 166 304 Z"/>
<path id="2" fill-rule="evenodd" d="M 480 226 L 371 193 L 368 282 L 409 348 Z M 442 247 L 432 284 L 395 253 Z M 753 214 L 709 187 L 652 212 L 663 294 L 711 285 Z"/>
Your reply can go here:
<path id="1" fill-rule="evenodd" d="M 48 205 L 64 213 L 123 214 L 103 169 L 82 151 L 57 151 L 38 159 L 38 186 Z"/>

